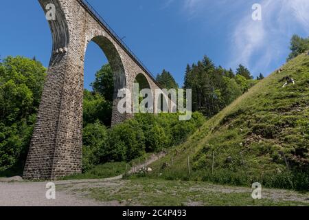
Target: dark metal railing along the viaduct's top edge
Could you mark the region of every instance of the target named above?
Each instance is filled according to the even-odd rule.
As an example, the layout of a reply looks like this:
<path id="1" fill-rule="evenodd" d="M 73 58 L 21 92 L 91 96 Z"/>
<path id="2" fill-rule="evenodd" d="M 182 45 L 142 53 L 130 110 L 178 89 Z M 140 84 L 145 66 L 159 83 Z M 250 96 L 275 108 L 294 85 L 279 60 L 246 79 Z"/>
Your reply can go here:
<path id="1" fill-rule="evenodd" d="M 122 41 L 122 39 L 118 36 L 118 34 L 111 28 L 110 25 L 100 16 L 100 14 L 93 8 L 93 6 L 87 1 L 87 0 L 79 0 L 88 10 L 93 14 L 95 19 L 97 19 L 103 26 L 106 28 L 106 30 L 113 36 L 113 38 L 121 45 L 128 54 L 130 54 L 131 57 L 137 61 L 137 63 L 141 66 L 142 69 L 148 74 L 153 80 L 155 80 L 155 76 L 150 72 L 150 70 L 142 63 L 139 58 L 134 54 L 132 50 Z"/>

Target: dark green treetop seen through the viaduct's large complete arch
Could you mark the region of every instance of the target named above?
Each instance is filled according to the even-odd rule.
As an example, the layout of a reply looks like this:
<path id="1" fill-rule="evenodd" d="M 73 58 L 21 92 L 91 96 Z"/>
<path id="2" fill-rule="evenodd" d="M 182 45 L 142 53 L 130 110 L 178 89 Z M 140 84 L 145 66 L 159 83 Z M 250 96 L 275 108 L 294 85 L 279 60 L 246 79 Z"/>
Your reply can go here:
<path id="1" fill-rule="evenodd" d="M 114 78 L 111 65 L 106 64 L 95 74 L 95 81 L 91 83 L 93 91 L 101 94 L 105 100 L 113 102 Z"/>

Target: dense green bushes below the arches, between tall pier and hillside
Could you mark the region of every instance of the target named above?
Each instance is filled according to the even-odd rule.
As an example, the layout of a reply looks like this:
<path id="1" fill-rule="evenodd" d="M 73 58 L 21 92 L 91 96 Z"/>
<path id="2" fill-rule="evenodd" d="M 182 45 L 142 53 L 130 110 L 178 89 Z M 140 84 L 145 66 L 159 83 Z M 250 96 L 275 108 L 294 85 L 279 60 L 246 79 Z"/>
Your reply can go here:
<path id="1" fill-rule="evenodd" d="M 83 170 L 105 162 L 129 162 L 181 144 L 204 122 L 204 116 L 196 112 L 189 121 L 179 121 L 174 113 L 140 113 L 111 129 L 99 120 L 87 124 L 83 131 Z"/>

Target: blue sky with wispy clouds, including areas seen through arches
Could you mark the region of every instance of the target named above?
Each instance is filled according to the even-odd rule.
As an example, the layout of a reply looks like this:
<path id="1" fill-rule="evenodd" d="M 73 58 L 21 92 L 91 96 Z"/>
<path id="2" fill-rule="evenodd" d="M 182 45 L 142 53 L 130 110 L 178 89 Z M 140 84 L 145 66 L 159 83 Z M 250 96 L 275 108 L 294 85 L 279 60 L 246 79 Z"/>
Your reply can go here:
<path id="1" fill-rule="evenodd" d="M 179 85 L 187 63 L 204 55 L 216 65 L 236 69 L 242 63 L 254 76 L 268 75 L 285 63 L 290 37 L 309 36 L 308 0 L 89 0 L 119 36 L 157 75 L 170 71 Z M 262 5 L 262 21 L 253 21 L 253 3 Z M 1 1 L 0 56 L 22 55 L 47 66 L 52 37 L 36 0 Z M 106 63 L 89 44 L 85 87 Z"/>

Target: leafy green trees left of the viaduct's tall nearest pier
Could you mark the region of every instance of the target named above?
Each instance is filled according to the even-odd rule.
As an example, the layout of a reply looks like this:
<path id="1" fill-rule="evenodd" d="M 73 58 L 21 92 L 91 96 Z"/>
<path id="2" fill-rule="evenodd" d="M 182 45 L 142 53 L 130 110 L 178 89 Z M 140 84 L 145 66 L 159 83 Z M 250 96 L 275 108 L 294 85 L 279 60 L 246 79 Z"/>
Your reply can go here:
<path id="1" fill-rule="evenodd" d="M 8 56 L 0 63 L 0 167 L 23 166 L 41 99 L 46 69 Z"/>

